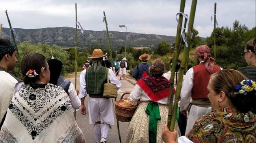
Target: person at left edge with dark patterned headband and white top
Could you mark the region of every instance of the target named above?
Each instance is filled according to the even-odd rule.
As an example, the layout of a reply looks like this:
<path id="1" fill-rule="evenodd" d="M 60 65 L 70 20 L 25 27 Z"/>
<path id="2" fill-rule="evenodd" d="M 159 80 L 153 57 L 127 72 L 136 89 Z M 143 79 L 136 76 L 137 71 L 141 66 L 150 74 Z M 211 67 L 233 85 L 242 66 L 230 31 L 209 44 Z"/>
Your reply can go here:
<path id="1" fill-rule="evenodd" d="M 0 129 L 13 93 L 17 92 L 22 84 L 22 80 L 9 73 L 18 61 L 16 55 L 16 47 L 9 40 L 0 38 Z"/>

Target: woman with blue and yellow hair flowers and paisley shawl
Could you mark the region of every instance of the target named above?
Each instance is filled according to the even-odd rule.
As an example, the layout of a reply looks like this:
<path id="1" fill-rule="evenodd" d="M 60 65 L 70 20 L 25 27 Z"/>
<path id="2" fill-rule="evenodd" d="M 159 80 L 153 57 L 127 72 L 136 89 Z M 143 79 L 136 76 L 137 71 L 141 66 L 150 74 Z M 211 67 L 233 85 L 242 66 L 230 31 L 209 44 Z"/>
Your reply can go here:
<path id="1" fill-rule="evenodd" d="M 178 143 L 256 143 L 256 83 L 241 72 L 223 69 L 211 75 L 207 86 L 212 112 L 197 119 Z M 176 132 L 165 125 L 165 143 L 176 142 Z"/>

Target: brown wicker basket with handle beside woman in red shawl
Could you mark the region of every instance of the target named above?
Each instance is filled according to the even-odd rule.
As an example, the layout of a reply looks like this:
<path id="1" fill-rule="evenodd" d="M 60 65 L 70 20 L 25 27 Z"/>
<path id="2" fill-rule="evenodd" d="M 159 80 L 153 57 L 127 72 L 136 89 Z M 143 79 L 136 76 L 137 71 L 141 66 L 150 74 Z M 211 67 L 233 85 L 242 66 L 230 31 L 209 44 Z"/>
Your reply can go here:
<path id="1" fill-rule="evenodd" d="M 129 92 L 125 92 L 124 94 L 130 94 Z M 123 98 L 124 94 L 122 94 L 121 99 L 119 101 L 115 101 L 115 116 L 121 122 L 129 122 L 134 115 L 137 106 L 133 106 L 127 98 Z"/>

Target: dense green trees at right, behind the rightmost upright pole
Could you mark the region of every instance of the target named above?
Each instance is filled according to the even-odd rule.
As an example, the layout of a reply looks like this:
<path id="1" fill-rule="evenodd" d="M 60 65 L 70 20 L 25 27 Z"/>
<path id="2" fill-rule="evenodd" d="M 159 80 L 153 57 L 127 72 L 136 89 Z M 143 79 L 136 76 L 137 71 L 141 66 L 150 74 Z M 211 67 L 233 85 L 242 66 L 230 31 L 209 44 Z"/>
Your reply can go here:
<path id="1" fill-rule="evenodd" d="M 241 25 L 239 21 L 233 23 L 233 28 L 216 28 L 217 58 L 215 62 L 224 69 L 238 69 L 247 66 L 241 53 L 245 48 L 245 43 L 256 37 L 256 27 L 248 29 Z M 213 33 L 207 38 L 209 47 L 213 47 Z M 211 50 L 213 55 L 213 50 Z"/>

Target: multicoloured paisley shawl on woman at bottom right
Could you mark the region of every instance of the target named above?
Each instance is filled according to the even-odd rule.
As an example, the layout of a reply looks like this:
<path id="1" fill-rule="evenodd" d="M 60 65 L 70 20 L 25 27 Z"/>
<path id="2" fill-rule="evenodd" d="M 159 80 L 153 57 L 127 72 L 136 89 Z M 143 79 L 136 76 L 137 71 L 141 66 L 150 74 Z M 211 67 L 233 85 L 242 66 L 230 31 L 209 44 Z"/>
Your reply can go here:
<path id="1" fill-rule="evenodd" d="M 251 112 L 217 109 L 201 116 L 187 138 L 194 143 L 255 143 L 255 121 Z"/>

